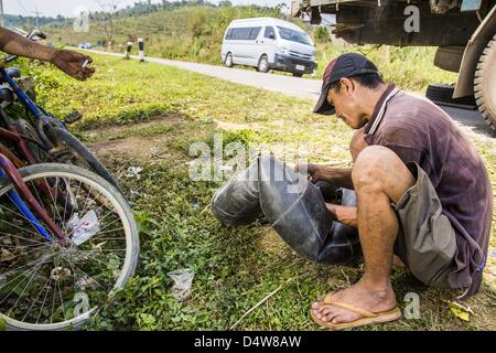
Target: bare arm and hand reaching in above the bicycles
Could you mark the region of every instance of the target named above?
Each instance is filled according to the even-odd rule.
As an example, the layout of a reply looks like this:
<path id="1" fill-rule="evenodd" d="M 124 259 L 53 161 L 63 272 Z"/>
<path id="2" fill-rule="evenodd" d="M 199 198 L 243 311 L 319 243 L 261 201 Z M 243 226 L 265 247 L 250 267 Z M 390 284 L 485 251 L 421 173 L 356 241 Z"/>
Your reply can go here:
<path id="1" fill-rule="evenodd" d="M 67 75 L 80 81 L 90 77 L 95 72 L 94 68 L 83 67 L 86 61 L 88 64 L 91 63 L 91 58 L 87 55 L 74 51 L 52 49 L 1 26 L 0 50 L 11 55 L 52 63 Z"/>

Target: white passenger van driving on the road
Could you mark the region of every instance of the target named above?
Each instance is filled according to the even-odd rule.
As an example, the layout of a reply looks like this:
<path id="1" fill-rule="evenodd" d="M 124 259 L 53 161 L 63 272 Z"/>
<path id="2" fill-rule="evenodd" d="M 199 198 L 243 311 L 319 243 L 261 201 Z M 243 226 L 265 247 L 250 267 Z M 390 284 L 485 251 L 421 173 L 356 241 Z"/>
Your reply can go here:
<path id="1" fill-rule="evenodd" d="M 279 69 L 301 77 L 316 69 L 316 49 L 298 25 L 272 18 L 234 20 L 224 34 L 223 63 L 255 66 L 259 72 Z"/>

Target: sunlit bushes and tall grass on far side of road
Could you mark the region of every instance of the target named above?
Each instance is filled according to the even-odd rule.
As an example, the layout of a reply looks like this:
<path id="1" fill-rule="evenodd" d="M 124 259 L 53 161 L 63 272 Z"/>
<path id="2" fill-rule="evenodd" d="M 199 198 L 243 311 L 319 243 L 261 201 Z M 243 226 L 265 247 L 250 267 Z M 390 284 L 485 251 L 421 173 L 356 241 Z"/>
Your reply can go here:
<path id="1" fill-rule="evenodd" d="M 201 1 L 200 1 L 201 2 Z M 206 6 L 198 2 L 184 2 L 148 8 L 144 3 L 118 12 L 112 19 L 112 40 L 106 40 L 101 30 L 101 15 L 90 18 L 89 33 L 74 32 L 72 22 L 55 22 L 44 26 L 50 40 L 57 45 L 77 46 L 90 42 L 96 49 L 123 53 L 126 42 L 137 38 L 144 39 L 147 56 L 191 61 L 223 65 L 220 46 L 224 33 L 234 19 L 273 17 L 291 21 L 312 35 L 317 47 L 319 68 L 315 75 L 304 77 L 321 78 L 327 63 L 344 52 L 360 52 L 377 63 L 387 82 L 416 92 L 424 93 L 432 83 L 451 84 L 456 75 L 435 67 L 433 63 L 435 47 L 395 47 L 384 45 L 342 45 L 333 44 L 327 30 L 312 26 L 299 19 L 292 19 L 281 12 L 281 8 Z M 137 54 L 137 44 L 133 45 Z M 255 69 L 254 67 L 248 69 Z"/>

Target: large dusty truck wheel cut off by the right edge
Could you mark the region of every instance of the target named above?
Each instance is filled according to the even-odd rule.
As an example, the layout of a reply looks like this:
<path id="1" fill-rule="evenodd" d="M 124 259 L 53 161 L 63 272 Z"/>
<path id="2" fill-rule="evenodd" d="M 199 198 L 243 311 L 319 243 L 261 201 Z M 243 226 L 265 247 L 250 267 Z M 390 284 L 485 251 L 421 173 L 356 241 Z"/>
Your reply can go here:
<path id="1" fill-rule="evenodd" d="M 496 35 L 487 43 L 474 78 L 474 95 L 478 110 L 490 127 L 496 130 Z"/>

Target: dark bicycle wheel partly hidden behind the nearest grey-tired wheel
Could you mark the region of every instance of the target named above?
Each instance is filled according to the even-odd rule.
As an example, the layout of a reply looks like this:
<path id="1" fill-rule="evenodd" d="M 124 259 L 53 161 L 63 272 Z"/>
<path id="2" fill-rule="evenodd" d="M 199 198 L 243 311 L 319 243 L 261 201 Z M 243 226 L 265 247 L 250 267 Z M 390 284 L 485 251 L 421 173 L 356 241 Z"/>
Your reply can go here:
<path id="1" fill-rule="evenodd" d="M 66 129 L 52 127 L 48 130 L 48 136 L 55 142 L 56 148 L 53 157 L 57 162 L 71 163 L 91 170 L 116 186 L 122 195 L 125 194 L 119 183 L 100 160 L 74 135 Z"/>

